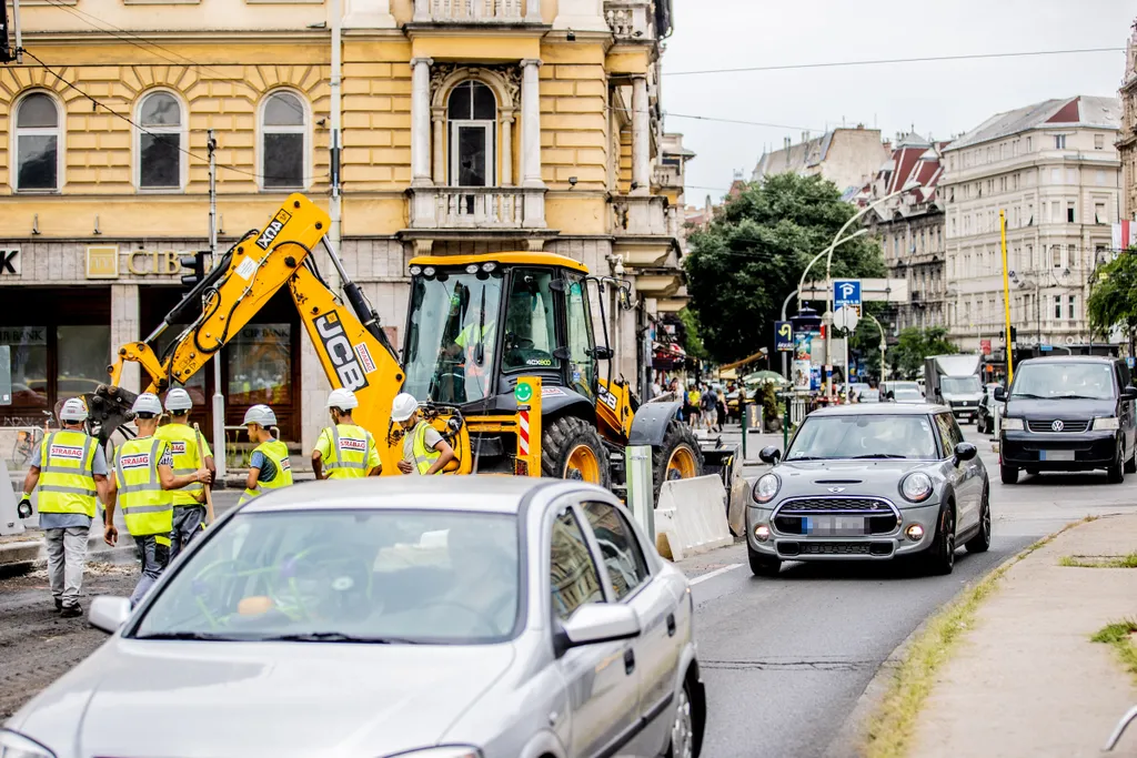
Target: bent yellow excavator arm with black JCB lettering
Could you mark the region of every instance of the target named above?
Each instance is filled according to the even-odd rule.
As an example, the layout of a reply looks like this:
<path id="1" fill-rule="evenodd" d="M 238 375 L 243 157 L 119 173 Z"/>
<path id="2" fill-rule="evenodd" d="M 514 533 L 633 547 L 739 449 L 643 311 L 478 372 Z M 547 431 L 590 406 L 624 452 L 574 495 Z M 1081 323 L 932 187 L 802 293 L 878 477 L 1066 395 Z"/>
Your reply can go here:
<path id="1" fill-rule="evenodd" d="M 102 393 L 94 406 L 103 413 L 108 406 L 118 406 L 118 423 L 125 419 L 122 406 L 128 408 L 132 398 L 117 389 L 125 361 L 139 363 L 146 369 L 149 392 L 186 382 L 287 284 L 329 382 L 355 391 L 359 399 L 356 422 L 375 436 L 384 473 L 398 473 L 401 445 L 390 434 L 390 410 L 405 374 L 375 311 L 331 248 L 327 251 L 343 281 L 347 303 L 321 278 L 310 253 L 321 242 L 327 245 L 324 235 L 329 224 L 327 215 L 307 198 L 289 197 L 268 225 L 234 245 L 147 340 L 119 349 L 110 369 L 116 386 Z M 151 348 L 153 340 L 169 325 L 189 319 L 190 326 L 171 349 L 157 356 Z M 117 426 L 113 416 L 103 416 L 102 425 L 110 427 L 101 434 L 103 439 Z M 440 431 L 445 422 L 437 424 Z M 453 438 L 455 451 L 468 470 L 465 428 Z"/>

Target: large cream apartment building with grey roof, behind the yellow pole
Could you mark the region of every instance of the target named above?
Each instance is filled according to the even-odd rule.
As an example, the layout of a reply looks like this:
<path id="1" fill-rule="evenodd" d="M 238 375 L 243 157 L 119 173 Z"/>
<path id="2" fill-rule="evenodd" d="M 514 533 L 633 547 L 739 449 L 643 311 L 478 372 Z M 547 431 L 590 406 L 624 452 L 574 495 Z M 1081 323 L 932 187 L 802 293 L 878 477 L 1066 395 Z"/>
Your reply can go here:
<path id="1" fill-rule="evenodd" d="M 976 351 L 1004 323 L 999 211 L 1020 345 L 1089 342 L 1086 297 L 1121 203 L 1115 98 L 1046 100 L 991 116 L 944 150 L 947 322 Z"/>

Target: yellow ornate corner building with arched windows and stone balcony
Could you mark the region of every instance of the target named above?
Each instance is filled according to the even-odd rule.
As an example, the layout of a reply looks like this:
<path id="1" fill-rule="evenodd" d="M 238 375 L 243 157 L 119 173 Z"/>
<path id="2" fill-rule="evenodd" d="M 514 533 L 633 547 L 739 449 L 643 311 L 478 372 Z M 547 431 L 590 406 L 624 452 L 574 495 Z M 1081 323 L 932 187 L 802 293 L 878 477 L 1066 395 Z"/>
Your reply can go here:
<path id="1" fill-rule="evenodd" d="M 177 258 L 207 243 L 209 130 L 222 249 L 288 193 L 323 198 L 396 344 L 410 256 L 568 255 L 633 282 L 616 374 L 647 375 L 653 320 L 683 303 L 690 153 L 659 109 L 670 0 L 20 6 L 27 52 L 0 66 L 0 344 L 16 385 L 0 416 L 42 418 L 102 381 L 110 350 L 179 300 Z M 312 443 L 326 383 L 306 341 L 287 297 L 238 335 L 229 423 L 267 401 L 287 439 Z M 211 377 L 191 389 L 205 402 Z"/>

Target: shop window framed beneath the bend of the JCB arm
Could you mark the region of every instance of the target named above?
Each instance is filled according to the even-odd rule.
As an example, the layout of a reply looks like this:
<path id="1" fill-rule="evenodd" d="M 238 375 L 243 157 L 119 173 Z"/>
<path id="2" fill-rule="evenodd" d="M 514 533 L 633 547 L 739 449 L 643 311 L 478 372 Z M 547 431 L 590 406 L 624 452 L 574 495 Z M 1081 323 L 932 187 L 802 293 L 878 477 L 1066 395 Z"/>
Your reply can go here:
<path id="1" fill-rule="evenodd" d="M 229 343 L 227 405 L 292 402 L 291 324 L 249 324 Z"/>

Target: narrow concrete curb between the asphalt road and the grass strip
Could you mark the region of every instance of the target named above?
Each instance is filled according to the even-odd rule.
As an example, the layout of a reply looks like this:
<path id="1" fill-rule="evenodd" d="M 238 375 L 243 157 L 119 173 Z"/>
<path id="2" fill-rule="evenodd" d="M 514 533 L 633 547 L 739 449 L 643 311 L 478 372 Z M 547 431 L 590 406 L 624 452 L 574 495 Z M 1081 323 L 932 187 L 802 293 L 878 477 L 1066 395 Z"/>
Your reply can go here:
<path id="1" fill-rule="evenodd" d="M 1105 517 L 1102 516 L 1099 518 Z M 1010 568 L 1012 564 L 1022 560 L 1027 555 L 1034 552 L 1039 542 L 1052 542 L 1063 532 L 1069 531 L 1082 523 L 1085 523 L 1085 519 L 1070 522 L 1061 530 L 1038 538 L 1019 552 L 993 566 L 990 570 L 986 572 L 982 576 L 977 576 L 972 582 L 964 584 L 960 588 L 958 592 L 952 595 L 951 600 L 941 605 L 936 613 L 920 622 L 920 624 L 912 630 L 912 633 L 904 638 L 904 641 L 896 645 L 893 652 L 890 652 L 888 657 L 881 661 L 877 673 L 873 674 L 873 677 L 869 680 L 869 684 L 864 688 L 864 692 L 862 692 L 857 698 L 853 710 L 849 711 L 848 717 L 845 718 L 824 752 L 821 753 L 822 758 L 861 758 L 861 748 L 864 745 L 864 738 L 866 736 L 869 727 L 869 717 L 880 707 L 880 703 L 883 702 L 885 694 L 888 692 L 888 688 L 891 683 L 890 680 L 895 675 L 896 669 L 901 667 L 901 663 L 912 648 L 913 642 L 915 642 L 915 640 L 919 639 L 920 635 L 928 628 L 928 625 L 932 622 L 932 619 L 937 618 L 945 609 L 955 605 L 955 602 L 957 602 L 965 592 L 972 590 L 977 584 L 985 581 L 991 574 L 995 574 L 1004 567 Z"/>

